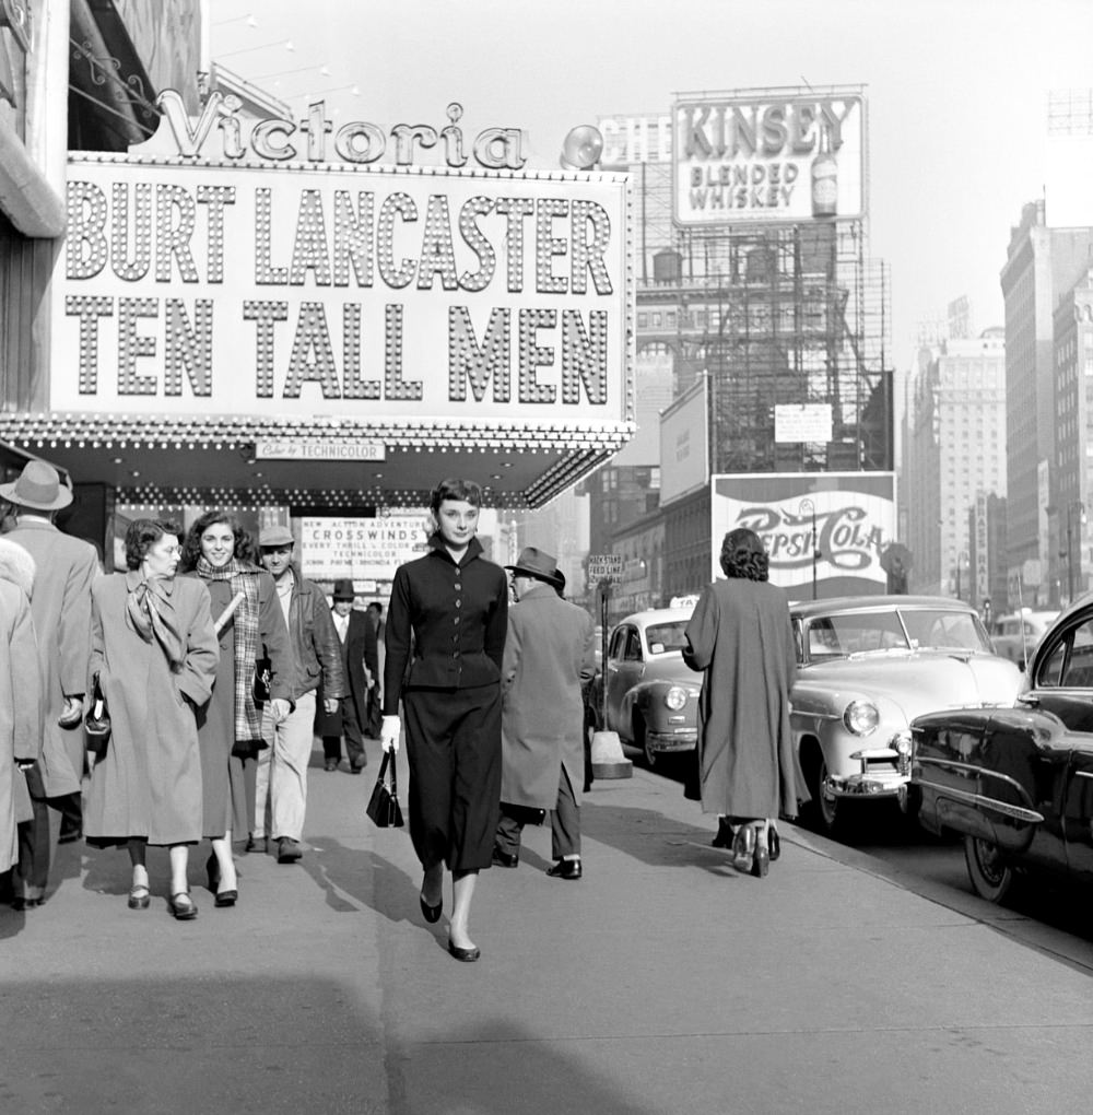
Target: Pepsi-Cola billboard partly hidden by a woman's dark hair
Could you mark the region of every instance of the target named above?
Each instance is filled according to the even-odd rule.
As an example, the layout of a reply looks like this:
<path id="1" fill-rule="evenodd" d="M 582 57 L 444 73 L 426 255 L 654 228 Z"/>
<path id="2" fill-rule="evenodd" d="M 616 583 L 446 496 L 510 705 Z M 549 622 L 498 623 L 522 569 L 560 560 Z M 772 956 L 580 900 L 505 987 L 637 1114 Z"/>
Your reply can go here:
<path id="1" fill-rule="evenodd" d="M 772 584 L 792 600 L 812 598 L 813 561 L 819 599 L 888 591 L 881 555 L 896 541 L 894 473 L 713 476 L 709 503 L 712 579 L 724 575 L 720 540 L 746 526 L 766 546 Z"/>

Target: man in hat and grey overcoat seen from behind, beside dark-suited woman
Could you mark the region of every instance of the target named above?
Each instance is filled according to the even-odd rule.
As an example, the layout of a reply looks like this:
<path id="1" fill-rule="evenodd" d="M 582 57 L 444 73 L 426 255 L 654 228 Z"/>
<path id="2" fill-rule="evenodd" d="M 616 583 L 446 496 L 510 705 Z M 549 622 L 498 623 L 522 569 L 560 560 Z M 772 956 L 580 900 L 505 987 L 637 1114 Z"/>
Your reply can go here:
<path id="1" fill-rule="evenodd" d="M 518 603 L 509 609 L 501 668 L 501 820 L 493 862 L 520 863 L 529 821 L 550 812 L 546 874 L 581 878 L 580 793 L 584 783 L 581 687 L 594 669 L 592 617 L 559 595 L 558 562 L 534 546 L 512 570 Z"/>

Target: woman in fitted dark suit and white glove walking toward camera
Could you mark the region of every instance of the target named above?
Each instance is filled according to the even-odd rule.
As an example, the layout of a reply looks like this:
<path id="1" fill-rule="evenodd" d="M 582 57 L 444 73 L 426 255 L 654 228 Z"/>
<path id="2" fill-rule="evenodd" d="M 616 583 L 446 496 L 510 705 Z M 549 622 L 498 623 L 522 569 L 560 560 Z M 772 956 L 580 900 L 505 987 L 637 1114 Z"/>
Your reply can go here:
<path id="1" fill-rule="evenodd" d="M 384 665 L 384 750 L 406 728 L 409 823 L 424 869 L 419 902 L 439 920 L 452 872 L 448 952 L 477 960 L 467 921 L 480 871 L 490 866 L 501 801 L 501 662 L 509 579 L 475 537 L 482 489 L 442 481 L 429 508 L 429 551 L 395 573 Z M 413 655 L 410 652 L 413 639 Z"/>

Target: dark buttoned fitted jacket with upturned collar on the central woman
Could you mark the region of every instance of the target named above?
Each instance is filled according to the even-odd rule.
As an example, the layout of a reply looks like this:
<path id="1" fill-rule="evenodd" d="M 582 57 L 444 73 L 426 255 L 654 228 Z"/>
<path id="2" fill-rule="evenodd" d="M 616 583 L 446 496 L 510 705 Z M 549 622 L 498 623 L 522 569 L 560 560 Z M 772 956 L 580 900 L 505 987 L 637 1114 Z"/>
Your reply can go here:
<path id="1" fill-rule="evenodd" d="M 403 688 L 470 689 L 500 683 L 509 629 L 509 579 L 472 539 L 456 565 L 439 534 L 399 565 L 387 610 L 384 715 Z M 412 657 L 413 637 L 413 657 Z"/>

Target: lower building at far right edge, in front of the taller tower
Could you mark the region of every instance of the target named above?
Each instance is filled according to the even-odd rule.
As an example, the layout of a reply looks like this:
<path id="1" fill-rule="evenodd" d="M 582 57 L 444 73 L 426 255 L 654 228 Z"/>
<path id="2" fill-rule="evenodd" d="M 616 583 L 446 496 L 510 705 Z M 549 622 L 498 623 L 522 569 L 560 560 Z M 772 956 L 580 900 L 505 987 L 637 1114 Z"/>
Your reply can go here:
<path id="1" fill-rule="evenodd" d="M 1089 588 L 1093 560 L 1086 521 L 1093 513 L 1093 266 L 1058 300 L 1054 313 L 1055 468 L 1054 579 L 1066 600 Z"/>

